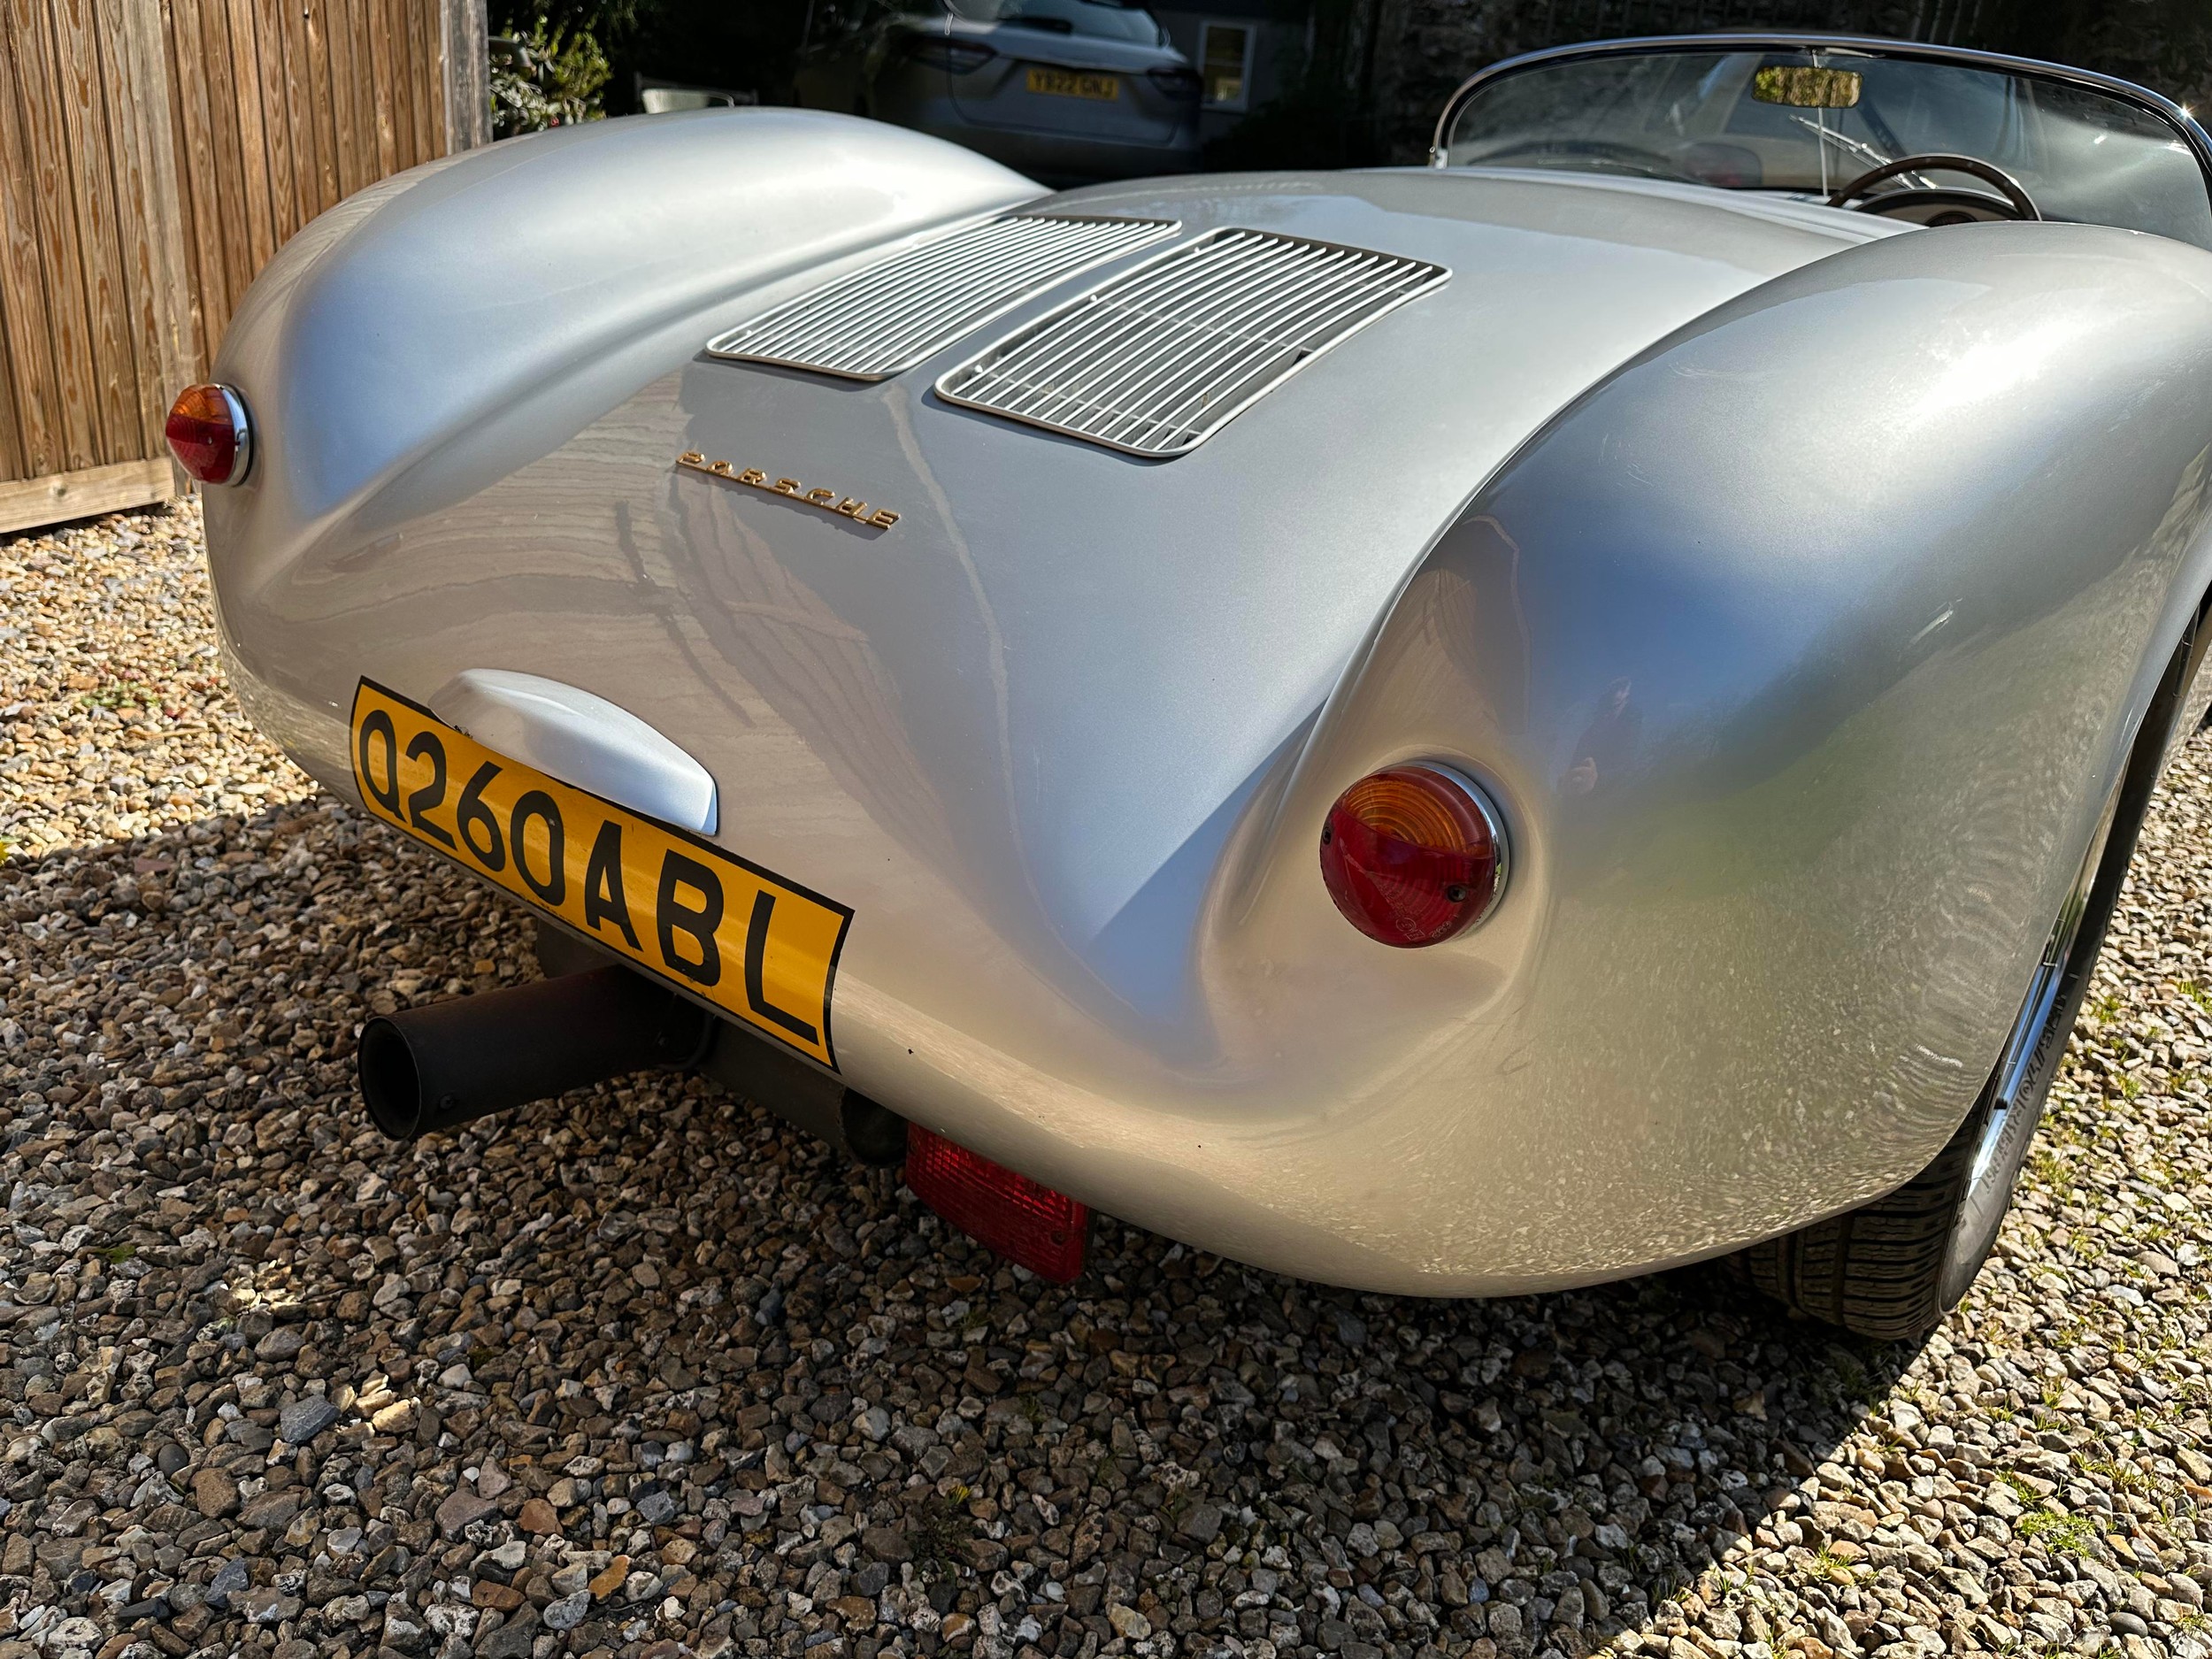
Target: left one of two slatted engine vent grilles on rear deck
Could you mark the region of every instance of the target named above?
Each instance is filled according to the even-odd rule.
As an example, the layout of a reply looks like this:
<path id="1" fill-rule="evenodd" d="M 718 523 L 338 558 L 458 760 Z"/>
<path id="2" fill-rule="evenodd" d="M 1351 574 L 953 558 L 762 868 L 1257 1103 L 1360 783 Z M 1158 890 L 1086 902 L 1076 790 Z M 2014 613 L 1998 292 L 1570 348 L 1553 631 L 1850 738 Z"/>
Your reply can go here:
<path id="1" fill-rule="evenodd" d="M 1062 276 L 1172 237 L 1172 219 L 1009 215 L 909 248 L 708 343 L 741 363 L 883 380 Z"/>

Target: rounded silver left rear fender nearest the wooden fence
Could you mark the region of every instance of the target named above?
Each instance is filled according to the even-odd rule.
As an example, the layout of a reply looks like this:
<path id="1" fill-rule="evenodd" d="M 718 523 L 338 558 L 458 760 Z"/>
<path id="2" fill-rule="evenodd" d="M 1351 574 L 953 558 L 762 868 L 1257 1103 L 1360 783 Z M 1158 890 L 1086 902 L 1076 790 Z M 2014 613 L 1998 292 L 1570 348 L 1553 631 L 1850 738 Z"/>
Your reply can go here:
<path id="1" fill-rule="evenodd" d="M 239 307 L 215 372 L 252 411 L 254 471 L 208 493 L 210 549 L 274 568 L 338 520 L 361 540 L 434 513 L 679 369 L 743 296 L 1037 195 L 958 146 L 781 108 L 595 122 L 398 175 Z"/>

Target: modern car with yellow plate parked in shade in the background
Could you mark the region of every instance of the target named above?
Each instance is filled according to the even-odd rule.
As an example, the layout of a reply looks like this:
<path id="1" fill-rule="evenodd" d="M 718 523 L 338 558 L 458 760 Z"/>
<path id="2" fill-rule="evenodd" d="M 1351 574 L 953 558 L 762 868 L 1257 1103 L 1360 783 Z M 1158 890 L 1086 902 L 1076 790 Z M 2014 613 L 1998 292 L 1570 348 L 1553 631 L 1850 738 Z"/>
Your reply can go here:
<path id="1" fill-rule="evenodd" d="M 1203 84 L 1124 0 L 922 0 L 799 71 L 799 102 L 982 150 L 1046 179 L 1179 173 Z"/>

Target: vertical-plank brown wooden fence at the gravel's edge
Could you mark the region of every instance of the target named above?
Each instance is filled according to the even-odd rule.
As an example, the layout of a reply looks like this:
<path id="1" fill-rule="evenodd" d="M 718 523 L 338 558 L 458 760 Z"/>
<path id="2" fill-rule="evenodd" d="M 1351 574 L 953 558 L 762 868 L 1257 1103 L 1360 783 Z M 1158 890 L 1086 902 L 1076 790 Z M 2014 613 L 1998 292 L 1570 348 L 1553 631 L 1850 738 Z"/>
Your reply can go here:
<path id="1" fill-rule="evenodd" d="M 254 272 L 489 139 L 482 0 L 0 0 L 0 531 L 175 493 Z"/>

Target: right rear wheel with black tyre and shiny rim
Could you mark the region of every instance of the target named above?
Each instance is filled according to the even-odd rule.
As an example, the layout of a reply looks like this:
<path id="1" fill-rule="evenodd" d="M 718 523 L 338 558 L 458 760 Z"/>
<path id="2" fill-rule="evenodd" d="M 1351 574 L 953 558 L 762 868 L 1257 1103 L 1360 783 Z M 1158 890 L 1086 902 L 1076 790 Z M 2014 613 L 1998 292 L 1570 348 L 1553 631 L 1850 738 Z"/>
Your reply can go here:
<path id="1" fill-rule="evenodd" d="M 2022 1006 L 1997 1068 L 1951 1141 L 1887 1197 L 1743 1250 L 1741 1272 L 1809 1318 L 1876 1340 L 1911 1340 L 1949 1314 L 1997 1243 L 2013 1186 L 2035 1139 L 2097 949 L 2119 902 L 2166 745 L 2201 657 L 2190 630 L 2143 712 L 2128 765 L 2112 787 L 2081 880 L 2053 927 L 2053 951 Z"/>

